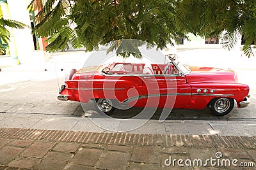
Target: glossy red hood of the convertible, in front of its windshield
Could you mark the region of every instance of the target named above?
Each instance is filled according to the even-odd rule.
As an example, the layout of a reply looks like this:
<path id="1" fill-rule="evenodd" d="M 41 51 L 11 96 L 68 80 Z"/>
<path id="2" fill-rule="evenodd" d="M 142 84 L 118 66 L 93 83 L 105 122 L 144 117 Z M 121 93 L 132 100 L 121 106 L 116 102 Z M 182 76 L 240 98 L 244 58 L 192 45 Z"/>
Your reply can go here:
<path id="1" fill-rule="evenodd" d="M 230 69 L 189 66 L 191 73 L 186 78 L 188 83 L 236 83 L 237 74 Z"/>

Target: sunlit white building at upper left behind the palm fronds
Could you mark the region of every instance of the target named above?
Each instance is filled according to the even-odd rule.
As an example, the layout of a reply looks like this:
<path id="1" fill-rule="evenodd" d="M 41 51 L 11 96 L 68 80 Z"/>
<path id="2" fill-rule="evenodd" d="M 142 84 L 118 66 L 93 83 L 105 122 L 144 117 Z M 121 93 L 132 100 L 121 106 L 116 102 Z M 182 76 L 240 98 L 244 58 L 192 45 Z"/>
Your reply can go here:
<path id="1" fill-rule="evenodd" d="M 0 0 L 0 15 L 1 18 L 17 20 L 29 27 L 25 29 L 11 29 L 10 42 L 8 46 L 10 49 L 10 56 L 15 64 L 33 64 L 37 62 L 45 62 L 51 57 L 50 53 L 45 52 L 45 38 L 38 38 L 32 32 L 35 25 L 35 13 L 32 8 L 28 8 L 31 0 Z"/>

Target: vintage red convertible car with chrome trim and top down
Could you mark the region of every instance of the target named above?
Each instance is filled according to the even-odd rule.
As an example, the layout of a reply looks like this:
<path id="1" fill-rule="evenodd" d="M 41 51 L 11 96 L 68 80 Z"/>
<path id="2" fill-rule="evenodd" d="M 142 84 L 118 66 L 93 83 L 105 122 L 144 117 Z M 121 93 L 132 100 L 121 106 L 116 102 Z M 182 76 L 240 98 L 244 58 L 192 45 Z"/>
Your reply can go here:
<path id="1" fill-rule="evenodd" d="M 95 110 L 109 115 L 116 108 L 136 107 L 211 109 L 217 116 L 244 108 L 248 85 L 237 83 L 230 69 L 193 67 L 166 55 L 163 64 L 113 62 L 108 66 L 72 69 L 61 86 L 61 101 L 93 100 Z"/>

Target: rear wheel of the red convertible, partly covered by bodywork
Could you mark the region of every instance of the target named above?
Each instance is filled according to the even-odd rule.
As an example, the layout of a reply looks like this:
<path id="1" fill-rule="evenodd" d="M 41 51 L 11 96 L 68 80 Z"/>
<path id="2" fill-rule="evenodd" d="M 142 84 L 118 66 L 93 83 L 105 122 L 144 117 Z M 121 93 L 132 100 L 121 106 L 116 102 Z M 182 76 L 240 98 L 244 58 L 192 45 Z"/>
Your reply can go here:
<path id="1" fill-rule="evenodd" d="M 103 112 L 106 115 L 110 115 L 116 110 L 116 108 L 113 106 L 113 102 L 114 101 L 111 99 L 94 99 L 93 106 L 97 112 Z"/>

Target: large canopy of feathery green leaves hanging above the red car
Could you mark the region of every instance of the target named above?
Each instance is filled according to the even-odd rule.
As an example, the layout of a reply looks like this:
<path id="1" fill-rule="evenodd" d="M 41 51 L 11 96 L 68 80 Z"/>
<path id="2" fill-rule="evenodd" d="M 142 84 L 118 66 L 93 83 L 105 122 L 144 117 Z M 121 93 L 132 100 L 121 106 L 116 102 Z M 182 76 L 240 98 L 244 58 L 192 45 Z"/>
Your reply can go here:
<path id="1" fill-rule="evenodd" d="M 244 34 L 244 52 L 249 56 L 248 46 L 255 41 L 255 0 L 46 0 L 45 4 L 33 0 L 32 4 L 41 9 L 35 30 L 39 37 L 49 38 L 49 52 L 67 49 L 68 41 L 74 48 L 92 51 L 119 39 L 140 39 L 162 49 L 180 37 L 188 39 L 188 32 L 211 37 L 225 31 L 227 48 L 235 45 L 236 34 Z M 127 47 L 122 41 L 117 45 Z"/>

